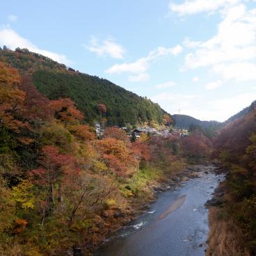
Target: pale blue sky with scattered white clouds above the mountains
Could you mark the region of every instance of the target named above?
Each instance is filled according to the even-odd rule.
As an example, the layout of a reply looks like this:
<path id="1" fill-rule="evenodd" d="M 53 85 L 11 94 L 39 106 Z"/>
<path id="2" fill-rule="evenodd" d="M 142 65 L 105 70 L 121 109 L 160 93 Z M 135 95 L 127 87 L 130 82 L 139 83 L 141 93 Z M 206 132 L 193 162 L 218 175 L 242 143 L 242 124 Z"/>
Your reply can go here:
<path id="1" fill-rule="evenodd" d="M 222 122 L 256 99 L 256 0 L 8 0 L 3 45 L 109 79 L 170 114 Z"/>

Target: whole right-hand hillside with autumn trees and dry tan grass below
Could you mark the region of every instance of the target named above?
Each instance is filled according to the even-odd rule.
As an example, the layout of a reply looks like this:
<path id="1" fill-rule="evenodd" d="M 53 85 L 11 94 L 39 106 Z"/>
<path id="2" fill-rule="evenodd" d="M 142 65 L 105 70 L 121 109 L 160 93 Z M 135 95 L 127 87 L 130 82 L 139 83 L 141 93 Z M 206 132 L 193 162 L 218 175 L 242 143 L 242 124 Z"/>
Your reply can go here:
<path id="1" fill-rule="evenodd" d="M 242 115 L 241 115 L 242 113 Z M 256 106 L 239 113 L 214 140 L 215 157 L 227 170 L 217 205 L 210 210 L 207 255 L 256 254 Z"/>

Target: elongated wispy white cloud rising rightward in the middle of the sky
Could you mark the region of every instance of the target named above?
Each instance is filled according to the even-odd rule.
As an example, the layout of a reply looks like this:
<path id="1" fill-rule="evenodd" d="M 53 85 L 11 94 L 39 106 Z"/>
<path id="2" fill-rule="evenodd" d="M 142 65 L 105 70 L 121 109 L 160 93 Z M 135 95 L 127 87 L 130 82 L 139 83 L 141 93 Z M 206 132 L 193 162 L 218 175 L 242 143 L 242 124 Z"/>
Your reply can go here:
<path id="1" fill-rule="evenodd" d="M 130 74 L 130 81 L 141 81 L 138 77 L 149 77 L 147 74 L 147 70 L 150 68 L 154 61 L 163 57 L 163 56 L 177 56 L 182 52 L 182 47 L 177 45 L 175 47 L 166 48 L 166 47 L 157 47 L 150 51 L 150 53 L 143 58 L 139 58 L 137 61 L 132 63 L 122 63 L 122 64 L 115 64 L 112 67 L 109 67 L 105 72 L 107 74 L 121 74 L 121 73 L 128 73 Z"/>

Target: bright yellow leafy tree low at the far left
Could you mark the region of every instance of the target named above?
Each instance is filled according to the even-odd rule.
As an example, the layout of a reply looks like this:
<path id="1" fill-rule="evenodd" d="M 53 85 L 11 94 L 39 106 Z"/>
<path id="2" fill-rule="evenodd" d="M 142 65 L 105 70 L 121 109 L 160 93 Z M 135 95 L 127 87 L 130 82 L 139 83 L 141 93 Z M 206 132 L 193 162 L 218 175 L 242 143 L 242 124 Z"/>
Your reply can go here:
<path id="1" fill-rule="evenodd" d="M 35 197 L 33 195 L 33 184 L 28 180 L 23 180 L 13 187 L 13 200 L 22 209 L 33 209 L 35 207 Z"/>

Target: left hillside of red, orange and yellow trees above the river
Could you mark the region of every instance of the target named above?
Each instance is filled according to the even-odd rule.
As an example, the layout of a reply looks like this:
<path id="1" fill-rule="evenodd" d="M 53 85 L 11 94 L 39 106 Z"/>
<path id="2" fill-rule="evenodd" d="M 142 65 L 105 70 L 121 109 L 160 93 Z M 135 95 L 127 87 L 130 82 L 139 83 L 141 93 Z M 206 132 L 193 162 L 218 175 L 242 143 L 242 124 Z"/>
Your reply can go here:
<path id="1" fill-rule="evenodd" d="M 210 141 L 107 127 L 96 138 L 69 98 L 50 100 L 0 62 L 0 255 L 88 255 L 154 198 L 152 186 L 205 161 Z M 136 208 L 137 205 L 137 208 Z"/>

